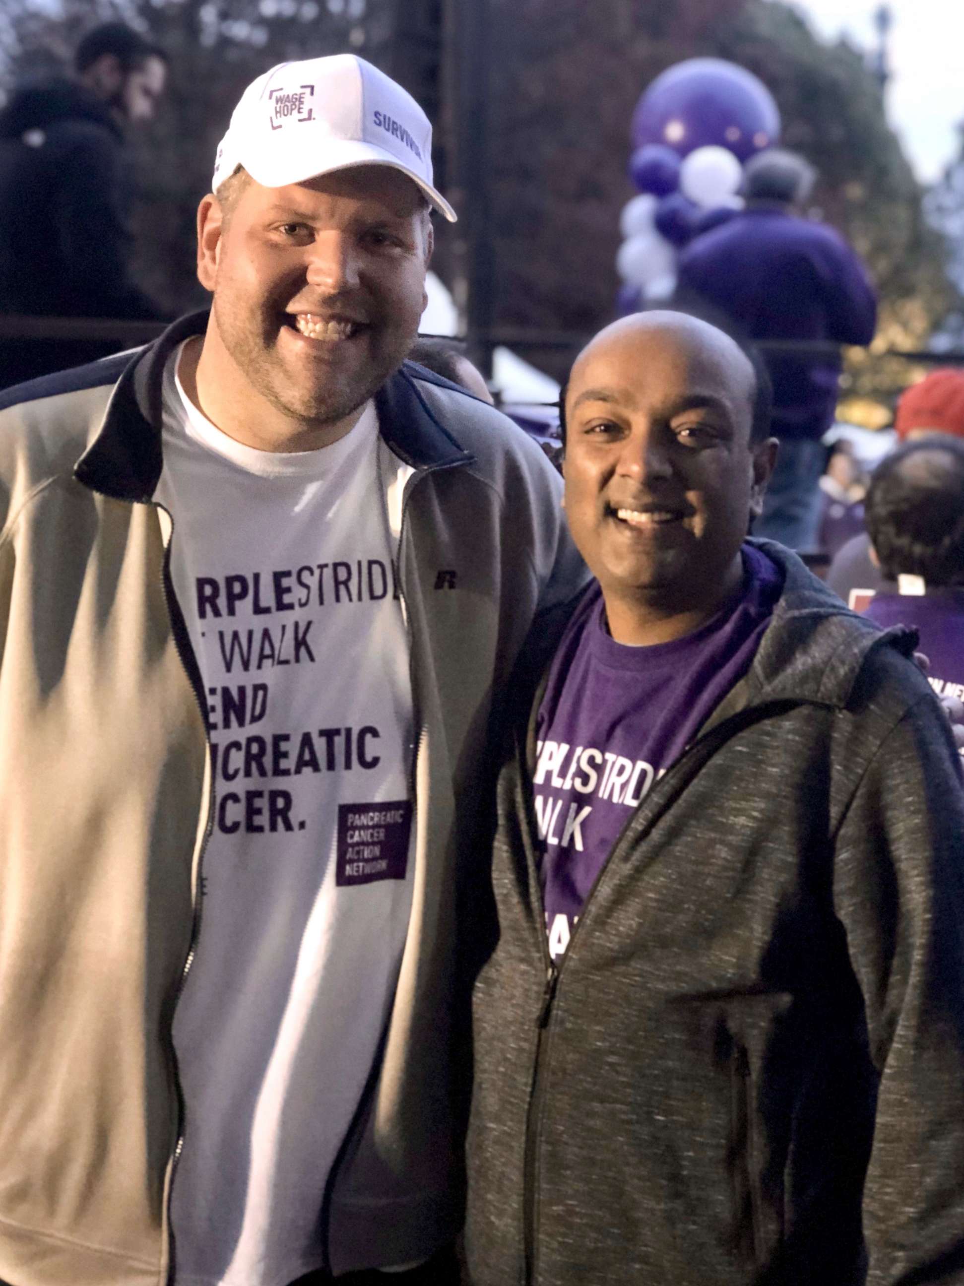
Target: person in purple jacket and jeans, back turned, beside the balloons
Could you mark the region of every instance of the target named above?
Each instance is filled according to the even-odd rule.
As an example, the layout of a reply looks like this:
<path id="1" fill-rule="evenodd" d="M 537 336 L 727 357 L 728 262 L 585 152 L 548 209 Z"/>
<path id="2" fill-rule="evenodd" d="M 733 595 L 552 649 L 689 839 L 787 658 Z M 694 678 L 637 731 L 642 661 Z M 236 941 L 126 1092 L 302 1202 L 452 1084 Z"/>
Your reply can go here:
<path id="1" fill-rule="evenodd" d="M 868 273 L 833 228 L 801 217 L 815 172 L 771 148 L 748 162 L 745 210 L 697 237 L 680 256 L 681 298 L 695 297 L 752 341 L 869 343 L 877 300 Z M 841 360 L 828 352 L 766 352 L 780 454 L 756 534 L 812 549 L 820 514 L 820 439 L 837 405 Z"/>

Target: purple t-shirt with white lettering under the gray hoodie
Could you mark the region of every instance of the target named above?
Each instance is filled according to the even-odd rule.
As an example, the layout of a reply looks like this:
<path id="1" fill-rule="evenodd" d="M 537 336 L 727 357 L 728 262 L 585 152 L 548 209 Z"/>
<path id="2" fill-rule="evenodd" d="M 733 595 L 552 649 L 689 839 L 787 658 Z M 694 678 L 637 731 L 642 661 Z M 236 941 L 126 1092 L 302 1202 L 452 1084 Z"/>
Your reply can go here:
<path id="1" fill-rule="evenodd" d="M 569 621 L 539 710 L 533 774 L 553 958 L 632 810 L 749 669 L 783 575 L 752 545 L 743 567 L 739 593 L 672 643 L 617 643 L 598 583 Z"/>

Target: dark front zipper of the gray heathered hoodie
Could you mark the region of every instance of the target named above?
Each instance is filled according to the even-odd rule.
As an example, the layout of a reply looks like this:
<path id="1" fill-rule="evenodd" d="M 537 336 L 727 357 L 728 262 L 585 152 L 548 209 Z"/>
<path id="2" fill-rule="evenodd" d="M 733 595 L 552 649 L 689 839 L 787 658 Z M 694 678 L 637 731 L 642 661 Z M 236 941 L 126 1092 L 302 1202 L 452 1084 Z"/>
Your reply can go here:
<path id="1" fill-rule="evenodd" d="M 541 691 L 542 689 L 540 688 L 540 692 Z M 541 701 L 541 696 L 539 693 L 537 693 L 537 700 Z M 751 707 L 753 715 L 757 714 L 758 709 L 760 707 Z M 536 1016 L 536 1029 L 539 1034 L 536 1037 L 536 1052 L 532 1067 L 532 1088 L 530 1091 L 528 1111 L 526 1114 L 526 1146 L 524 1146 L 524 1160 L 523 1160 L 523 1193 L 522 1193 L 523 1256 L 526 1265 L 526 1272 L 524 1272 L 526 1286 L 535 1286 L 536 1267 L 539 1260 L 539 1240 L 537 1240 L 539 1134 L 541 1128 L 542 1102 L 545 1098 L 545 1069 L 549 1061 L 549 1047 L 551 1039 L 551 1016 L 563 968 L 566 967 L 567 962 L 572 958 L 573 944 L 586 918 L 586 909 L 589 908 L 593 898 L 595 896 L 596 889 L 599 887 L 600 882 L 605 878 L 605 873 L 609 869 L 609 865 L 614 859 L 620 856 L 620 847 L 630 827 L 639 817 L 640 811 L 644 808 L 649 808 L 652 815 L 649 817 L 647 826 L 640 831 L 639 835 L 635 836 L 635 840 L 641 838 L 647 833 L 649 827 L 653 824 L 656 818 L 659 815 L 658 810 L 652 806 L 653 796 L 657 792 L 661 793 L 666 792 L 667 787 L 665 786 L 665 783 L 667 781 L 671 781 L 674 775 L 679 775 L 680 765 L 684 764 L 686 759 L 693 752 L 695 752 L 698 747 L 702 747 L 711 738 L 715 738 L 720 742 L 726 741 L 730 734 L 730 725 L 735 723 L 747 721 L 745 715 L 747 711 L 740 711 L 739 714 L 733 715 L 729 719 L 725 719 L 722 723 L 710 728 L 706 733 L 697 737 L 695 741 L 690 742 L 689 746 L 686 746 L 683 754 L 679 756 L 679 759 L 676 759 L 676 761 L 671 764 L 670 768 L 667 768 L 667 770 L 663 773 L 659 781 L 653 784 L 653 788 L 650 790 L 649 795 L 640 802 L 639 808 L 634 813 L 631 813 L 630 817 L 626 819 L 626 823 L 620 831 L 616 842 L 609 850 L 609 856 L 604 862 L 602 869 L 598 872 L 595 880 L 593 881 L 593 886 L 586 894 L 586 900 L 582 904 L 582 914 L 578 917 L 577 922 L 572 927 L 569 941 L 567 944 L 566 952 L 559 964 L 555 964 L 551 957 L 549 955 L 549 944 L 545 932 L 545 908 L 542 904 L 542 895 L 541 892 L 539 894 L 539 903 L 536 908 L 539 914 L 536 916 L 536 926 L 540 939 L 540 950 L 542 954 L 542 959 L 545 962 L 545 986 L 542 989 L 542 1001 L 539 1007 L 539 1013 Z M 726 736 L 719 736 L 721 730 L 725 730 Z M 528 768 L 528 737 L 526 738 L 526 741 L 521 747 L 519 761 L 522 764 L 523 778 L 524 778 L 523 797 L 524 797 L 524 810 L 526 810 L 526 824 L 528 833 L 531 836 L 536 836 L 539 835 L 539 828 L 536 824 L 535 809 L 532 804 L 533 795 L 532 795 L 531 773 Z M 535 869 L 535 863 L 533 863 L 533 869 L 531 871 L 530 874 L 532 877 L 532 887 L 540 889 L 539 871 Z"/>

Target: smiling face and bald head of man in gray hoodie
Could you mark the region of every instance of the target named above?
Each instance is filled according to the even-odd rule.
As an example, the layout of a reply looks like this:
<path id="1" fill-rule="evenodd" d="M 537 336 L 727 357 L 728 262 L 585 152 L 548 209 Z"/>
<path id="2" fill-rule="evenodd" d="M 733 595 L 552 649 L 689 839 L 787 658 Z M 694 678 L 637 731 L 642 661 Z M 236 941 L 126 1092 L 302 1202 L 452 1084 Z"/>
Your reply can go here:
<path id="1" fill-rule="evenodd" d="M 686 633 L 739 585 L 740 544 L 775 455 L 772 440 L 751 444 L 754 388 L 731 340 L 679 314 L 617 322 L 577 359 L 566 514 L 613 637 L 640 642 L 672 617 Z"/>

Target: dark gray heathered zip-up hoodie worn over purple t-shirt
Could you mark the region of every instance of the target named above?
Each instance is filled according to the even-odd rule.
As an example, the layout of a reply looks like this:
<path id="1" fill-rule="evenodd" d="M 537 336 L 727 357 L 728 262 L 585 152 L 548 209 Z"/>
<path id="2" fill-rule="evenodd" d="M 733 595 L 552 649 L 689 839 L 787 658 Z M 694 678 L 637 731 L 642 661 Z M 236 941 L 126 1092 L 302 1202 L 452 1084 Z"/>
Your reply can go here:
<path id="1" fill-rule="evenodd" d="M 627 823 L 558 971 L 545 680 L 518 702 L 473 1006 L 473 1286 L 964 1282 L 959 760 L 913 635 L 761 545 L 787 579 L 752 669 Z"/>

